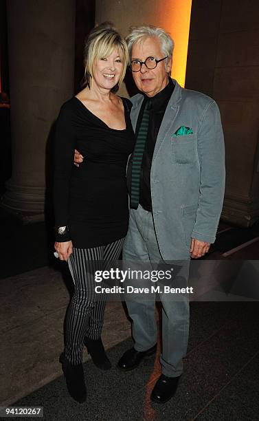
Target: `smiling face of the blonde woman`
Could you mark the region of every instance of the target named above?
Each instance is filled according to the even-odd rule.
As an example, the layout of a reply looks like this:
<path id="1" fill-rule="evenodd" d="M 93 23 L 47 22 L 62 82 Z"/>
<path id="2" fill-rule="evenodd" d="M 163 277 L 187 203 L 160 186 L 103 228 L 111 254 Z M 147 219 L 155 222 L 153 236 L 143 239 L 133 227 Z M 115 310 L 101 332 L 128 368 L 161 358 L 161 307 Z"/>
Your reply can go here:
<path id="1" fill-rule="evenodd" d="M 120 80 L 122 69 L 120 56 L 117 50 L 114 50 L 109 56 L 96 61 L 93 67 L 93 84 L 99 89 L 112 89 Z"/>

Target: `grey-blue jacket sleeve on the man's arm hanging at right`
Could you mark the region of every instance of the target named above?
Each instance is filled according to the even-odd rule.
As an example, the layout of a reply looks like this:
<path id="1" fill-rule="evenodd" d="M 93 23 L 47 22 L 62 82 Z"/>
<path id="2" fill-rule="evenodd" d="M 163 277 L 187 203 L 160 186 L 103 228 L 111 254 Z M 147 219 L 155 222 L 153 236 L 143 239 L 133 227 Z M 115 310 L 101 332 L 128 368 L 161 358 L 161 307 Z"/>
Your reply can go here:
<path id="1" fill-rule="evenodd" d="M 216 102 L 207 105 L 198 132 L 201 169 L 199 204 L 192 238 L 214 243 L 225 191 L 225 148 Z"/>

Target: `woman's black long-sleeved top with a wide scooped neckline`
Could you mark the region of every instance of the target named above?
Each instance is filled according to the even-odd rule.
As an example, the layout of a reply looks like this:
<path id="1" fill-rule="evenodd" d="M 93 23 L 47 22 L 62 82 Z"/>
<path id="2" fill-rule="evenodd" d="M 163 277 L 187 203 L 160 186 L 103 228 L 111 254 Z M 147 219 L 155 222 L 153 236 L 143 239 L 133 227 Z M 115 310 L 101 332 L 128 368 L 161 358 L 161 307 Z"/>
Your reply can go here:
<path id="1" fill-rule="evenodd" d="M 76 248 L 109 244 L 126 235 L 126 163 L 133 151 L 131 102 L 123 99 L 126 129 L 111 129 L 73 97 L 61 107 L 56 125 L 55 226 L 69 226 L 56 241 Z M 74 149 L 85 157 L 74 166 Z"/>

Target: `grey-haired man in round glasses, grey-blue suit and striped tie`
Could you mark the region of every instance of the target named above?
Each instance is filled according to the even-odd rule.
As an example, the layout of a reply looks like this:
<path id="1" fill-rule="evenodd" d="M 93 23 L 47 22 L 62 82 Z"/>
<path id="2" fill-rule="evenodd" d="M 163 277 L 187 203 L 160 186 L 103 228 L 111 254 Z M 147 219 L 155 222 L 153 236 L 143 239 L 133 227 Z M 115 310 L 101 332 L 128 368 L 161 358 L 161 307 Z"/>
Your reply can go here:
<path id="1" fill-rule="evenodd" d="M 133 28 L 126 39 L 133 79 L 131 98 L 137 136 L 128 163 L 131 192 L 123 258 L 148 263 L 189 261 L 215 241 L 225 184 L 221 117 L 216 102 L 183 89 L 170 78 L 173 41 L 161 28 Z M 184 277 L 183 277 L 184 280 Z M 183 282 L 185 283 L 185 281 Z M 164 403 L 174 395 L 188 344 L 188 300 L 162 304 L 162 374 L 151 394 Z M 123 371 L 155 353 L 155 301 L 126 299 L 135 345 L 120 358 Z"/>

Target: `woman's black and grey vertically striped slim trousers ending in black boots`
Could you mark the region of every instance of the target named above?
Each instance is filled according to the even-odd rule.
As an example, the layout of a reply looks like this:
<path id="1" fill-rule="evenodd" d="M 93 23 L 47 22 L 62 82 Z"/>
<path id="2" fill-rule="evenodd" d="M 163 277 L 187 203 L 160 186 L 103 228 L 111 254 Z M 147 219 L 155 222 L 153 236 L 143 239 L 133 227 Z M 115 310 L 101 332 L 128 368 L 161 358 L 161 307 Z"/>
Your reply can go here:
<path id="1" fill-rule="evenodd" d="M 123 242 L 124 238 L 105 246 L 73 248 L 69 257 L 74 294 L 65 317 L 65 356 L 73 365 L 82 363 L 82 349 L 87 338 L 98 339 L 102 332 L 106 301 L 103 294 L 98 300 L 93 271 L 100 270 L 103 261 L 109 266 L 108 261 L 117 260 Z"/>

